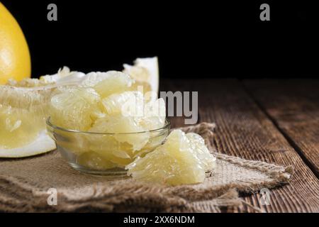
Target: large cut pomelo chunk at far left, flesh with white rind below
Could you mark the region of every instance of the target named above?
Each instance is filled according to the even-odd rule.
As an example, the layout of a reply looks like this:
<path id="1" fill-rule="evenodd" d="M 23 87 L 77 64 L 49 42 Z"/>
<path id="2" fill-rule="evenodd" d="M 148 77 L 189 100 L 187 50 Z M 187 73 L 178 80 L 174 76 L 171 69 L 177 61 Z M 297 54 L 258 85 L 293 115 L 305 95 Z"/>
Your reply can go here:
<path id="1" fill-rule="evenodd" d="M 0 86 L 0 157 L 26 157 L 55 149 L 45 133 L 52 89 Z"/>

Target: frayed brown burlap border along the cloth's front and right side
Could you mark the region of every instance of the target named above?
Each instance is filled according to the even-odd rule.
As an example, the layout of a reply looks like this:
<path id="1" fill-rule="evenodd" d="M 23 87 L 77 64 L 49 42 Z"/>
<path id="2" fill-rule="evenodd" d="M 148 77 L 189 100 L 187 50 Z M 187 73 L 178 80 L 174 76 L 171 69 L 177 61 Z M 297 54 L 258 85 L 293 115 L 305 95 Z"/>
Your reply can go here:
<path id="1" fill-rule="evenodd" d="M 47 194 L 38 191 L 23 179 L 0 174 L 0 211 L 9 212 L 220 212 L 223 206 L 239 206 L 242 199 L 237 192 L 256 192 L 263 187 L 273 188 L 289 182 L 292 167 L 281 167 L 239 157 L 223 155 L 213 151 L 214 123 L 200 123 L 196 126 L 181 128 L 185 132 L 194 132 L 203 136 L 208 148 L 219 160 L 241 167 L 263 172 L 272 182 L 258 184 L 232 184 L 218 189 L 194 189 L 189 186 L 165 187 L 152 184 L 136 183 L 114 187 L 112 192 L 101 185 L 92 185 L 96 193 L 90 199 L 70 200 L 64 194 L 58 194 L 58 206 L 47 205 Z M 95 188 L 96 187 L 96 188 Z M 142 192 L 142 193 L 140 193 Z M 178 192 L 178 193 L 177 193 Z M 177 195 L 178 194 L 178 195 Z M 191 195 L 191 196 L 190 196 Z M 30 199 L 32 198 L 32 199 Z M 249 204 L 248 204 L 249 205 Z M 256 208 L 256 211 L 258 209 Z"/>

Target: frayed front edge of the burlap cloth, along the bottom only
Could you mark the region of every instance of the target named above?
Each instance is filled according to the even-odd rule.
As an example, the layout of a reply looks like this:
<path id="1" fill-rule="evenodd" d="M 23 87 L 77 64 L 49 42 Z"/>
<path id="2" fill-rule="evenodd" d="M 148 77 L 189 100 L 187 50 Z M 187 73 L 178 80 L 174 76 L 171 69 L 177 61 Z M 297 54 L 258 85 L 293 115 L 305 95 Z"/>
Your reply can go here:
<path id="1" fill-rule="evenodd" d="M 96 187 L 91 199 L 70 200 L 57 194 L 58 206 L 47 205 L 47 194 L 38 192 L 29 184 L 13 177 L 0 175 L 0 211 L 7 212 L 220 212 L 220 206 L 239 206 L 237 190 L 221 187 L 210 192 L 198 192 L 191 187 L 154 187 L 152 184 L 134 184 L 134 187 L 115 188 L 113 192 Z M 142 191 L 142 193 L 139 193 Z M 179 191 L 179 196 L 176 192 Z M 125 193 L 123 193 L 125 192 Z M 190 194 L 201 194 L 189 198 Z"/>

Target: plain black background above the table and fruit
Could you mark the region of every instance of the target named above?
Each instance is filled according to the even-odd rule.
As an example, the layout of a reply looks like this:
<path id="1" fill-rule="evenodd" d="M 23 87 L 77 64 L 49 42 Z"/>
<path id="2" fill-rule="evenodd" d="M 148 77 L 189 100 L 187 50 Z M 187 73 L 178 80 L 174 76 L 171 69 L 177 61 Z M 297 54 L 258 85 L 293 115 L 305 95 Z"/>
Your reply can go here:
<path id="1" fill-rule="evenodd" d="M 26 35 L 33 77 L 157 55 L 161 77 L 319 78 L 318 13 L 307 1 L 1 2 Z M 50 3 L 58 21 L 47 21 Z M 259 20 L 262 3 L 271 21 Z"/>

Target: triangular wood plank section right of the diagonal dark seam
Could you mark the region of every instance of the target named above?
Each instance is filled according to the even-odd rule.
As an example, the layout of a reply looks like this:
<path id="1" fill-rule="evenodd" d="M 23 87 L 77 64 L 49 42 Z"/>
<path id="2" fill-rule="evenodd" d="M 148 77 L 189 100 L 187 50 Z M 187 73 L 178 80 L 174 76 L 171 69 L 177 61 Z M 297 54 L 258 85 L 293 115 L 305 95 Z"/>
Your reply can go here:
<path id="1" fill-rule="evenodd" d="M 319 81 L 250 80 L 245 87 L 319 176 Z"/>

